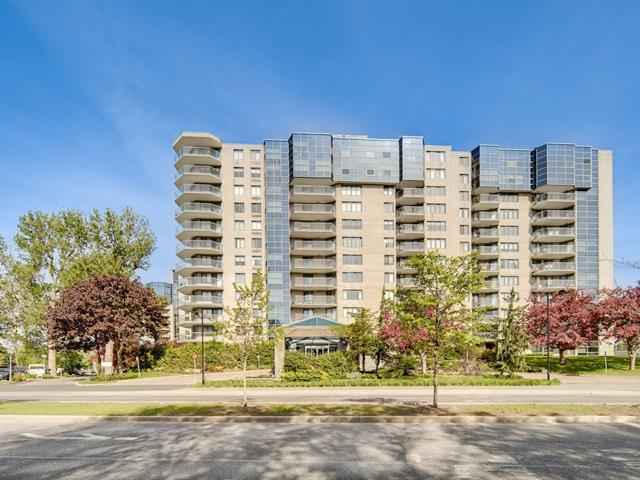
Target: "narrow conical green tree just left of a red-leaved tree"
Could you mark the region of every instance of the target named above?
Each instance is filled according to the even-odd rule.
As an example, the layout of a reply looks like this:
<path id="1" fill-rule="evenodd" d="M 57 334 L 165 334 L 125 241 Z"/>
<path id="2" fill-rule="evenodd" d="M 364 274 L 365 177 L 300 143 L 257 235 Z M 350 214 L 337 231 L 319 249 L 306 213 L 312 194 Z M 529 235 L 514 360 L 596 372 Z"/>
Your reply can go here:
<path id="1" fill-rule="evenodd" d="M 497 353 L 495 368 L 500 375 L 513 375 L 522 371 L 526 365 L 524 353 L 529 347 L 529 335 L 526 332 L 525 307 L 517 305 L 518 297 L 515 289 L 511 289 L 508 297 L 507 311 L 498 320 Z"/>

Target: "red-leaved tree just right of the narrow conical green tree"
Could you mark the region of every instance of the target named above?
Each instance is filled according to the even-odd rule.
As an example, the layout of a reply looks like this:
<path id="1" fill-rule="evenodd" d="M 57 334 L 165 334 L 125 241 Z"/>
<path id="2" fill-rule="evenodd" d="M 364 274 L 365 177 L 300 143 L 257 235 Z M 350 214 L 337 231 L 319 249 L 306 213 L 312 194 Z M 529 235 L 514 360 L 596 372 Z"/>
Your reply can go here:
<path id="1" fill-rule="evenodd" d="M 546 295 L 531 298 L 526 316 L 526 330 L 534 345 L 547 344 L 557 348 L 560 364 L 564 364 L 564 352 L 588 345 L 598 339 L 598 315 L 593 295 L 581 290 L 568 290 L 551 297 L 547 324 Z"/>

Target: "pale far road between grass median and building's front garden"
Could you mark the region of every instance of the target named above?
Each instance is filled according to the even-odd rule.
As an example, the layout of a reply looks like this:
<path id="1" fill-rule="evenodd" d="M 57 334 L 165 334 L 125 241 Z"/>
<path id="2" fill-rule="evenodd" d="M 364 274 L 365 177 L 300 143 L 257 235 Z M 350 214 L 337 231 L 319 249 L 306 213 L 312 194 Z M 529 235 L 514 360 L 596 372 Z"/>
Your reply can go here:
<path id="1" fill-rule="evenodd" d="M 561 385 L 538 387 L 441 387 L 442 404 L 640 403 L 640 378 L 563 377 Z M 193 388 L 193 377 L 161 377 L 115 384 L 78 385 L 75 379 L 1 384 L 0 401 L 235 402 L 235 388 Z M 253 402 L 430 402 L 431 387 L 253 388 Z"/>

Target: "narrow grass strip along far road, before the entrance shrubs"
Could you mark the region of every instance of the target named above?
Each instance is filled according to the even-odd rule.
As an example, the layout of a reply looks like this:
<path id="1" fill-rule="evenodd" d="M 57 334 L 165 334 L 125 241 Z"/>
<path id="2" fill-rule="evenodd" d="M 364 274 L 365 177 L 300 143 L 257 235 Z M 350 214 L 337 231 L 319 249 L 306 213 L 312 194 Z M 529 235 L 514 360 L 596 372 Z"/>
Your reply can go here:
<path id="1" fill-rule="evenodd" d="M 546 380 L 531 378 L 508 378 L 494 375 L 442 375 L 441 386 L 531 386 L 531 385 L 557 385 L 556 379 Z M 309 382 L 288 382 L 285 380 L 260 380 L 249 379 L 249 387 L 428 387 L 433 385 L 430 376 L 411 378 L 330 378 L 326 380 L 312 380 Z M 202 385 L 197 385 L 202 387 Z M 205 383 L 204 387 L 242 387 L 242 380 L 214 380 Z"/>

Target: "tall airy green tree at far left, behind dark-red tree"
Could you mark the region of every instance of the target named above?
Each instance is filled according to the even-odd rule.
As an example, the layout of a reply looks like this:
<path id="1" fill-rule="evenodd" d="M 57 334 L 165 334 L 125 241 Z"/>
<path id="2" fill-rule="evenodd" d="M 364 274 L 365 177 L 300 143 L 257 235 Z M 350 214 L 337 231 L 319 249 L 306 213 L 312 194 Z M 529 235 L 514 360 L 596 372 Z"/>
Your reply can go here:
<path id="1" fill-rule="evenodd" d="M 27 212 L 18 219 L 15 243 L 27 268 L 33 274 L 32 282 L 45 301 L 43 307 L 53 306 L 60 297 L 61 279 L 70 265 L 87 248 L 88 229 L 84 217 L 77 210 L 59 213 Z M 46 329 L 45 308 L 37 315 L 42 329 Z M 56 374 L 55 349 L 49 346 L 49 371 Z"/>

